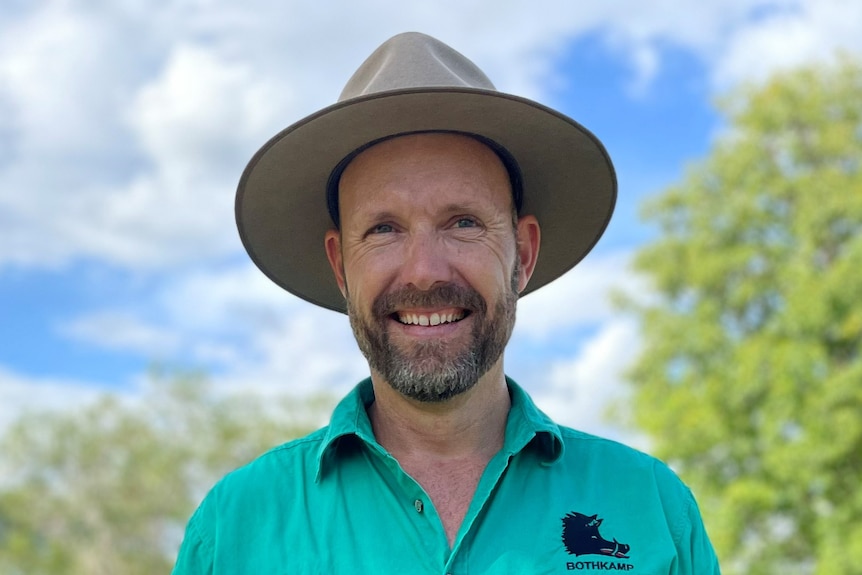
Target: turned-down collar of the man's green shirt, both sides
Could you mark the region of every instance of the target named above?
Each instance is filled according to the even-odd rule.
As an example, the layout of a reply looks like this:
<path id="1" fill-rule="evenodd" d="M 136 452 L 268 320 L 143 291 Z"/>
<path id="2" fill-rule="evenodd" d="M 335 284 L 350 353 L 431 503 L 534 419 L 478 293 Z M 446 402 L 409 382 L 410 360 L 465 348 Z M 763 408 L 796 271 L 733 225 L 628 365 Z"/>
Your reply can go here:
<path id="1" fill-rule="evenodd" d="M 503 451 L 509 456 L 516 455 L 526 447 L 536 449 L 543 463 L 551 465 L 563 455 L 563 438 L 556 423 L 542 413 L 521 386 L 511 378 L 506 378 L 512 406 L 506 422 L 506 438 Z M 320 481 L 329 466 L 334 465 L 341 455 L 341 448 L 351 438 L 361 440 L 370 448 L 384 452 L 377 443 L 367 408 L 374 401 L 374 388 L 371 378 L 361 381 L 342 399 L 332 412 L 329 427 L 317 454 L 315 481 Z"/>

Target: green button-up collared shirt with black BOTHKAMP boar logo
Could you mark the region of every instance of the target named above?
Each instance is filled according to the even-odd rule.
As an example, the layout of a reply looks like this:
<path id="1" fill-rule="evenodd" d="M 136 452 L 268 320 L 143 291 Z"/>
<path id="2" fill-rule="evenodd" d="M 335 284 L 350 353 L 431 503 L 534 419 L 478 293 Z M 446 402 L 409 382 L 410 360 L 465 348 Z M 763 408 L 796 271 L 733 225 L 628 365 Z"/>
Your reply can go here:
<path id="1" fill-rule="evenodd" d="M 670 469 L 556 425 L 508 384 L 503 449 L 451 548 L 428 495 L 374 438 L 365 380 L 328 427 L 212 489 L 173 575 L 718 574 L 694 498 Z"/>

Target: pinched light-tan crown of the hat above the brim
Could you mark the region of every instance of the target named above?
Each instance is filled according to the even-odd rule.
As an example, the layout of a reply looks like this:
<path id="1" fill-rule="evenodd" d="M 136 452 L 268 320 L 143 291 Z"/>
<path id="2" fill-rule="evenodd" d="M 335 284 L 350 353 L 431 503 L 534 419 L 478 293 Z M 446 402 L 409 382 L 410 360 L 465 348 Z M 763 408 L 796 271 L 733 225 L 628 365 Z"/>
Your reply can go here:
<path id="1" fill-rule="evenodd" d="M 431 36 L 405 32 L 384 42 L 359 66 L 338 101 L 433 87 L 496 90 L 485 73 L 460 52 Z"/>

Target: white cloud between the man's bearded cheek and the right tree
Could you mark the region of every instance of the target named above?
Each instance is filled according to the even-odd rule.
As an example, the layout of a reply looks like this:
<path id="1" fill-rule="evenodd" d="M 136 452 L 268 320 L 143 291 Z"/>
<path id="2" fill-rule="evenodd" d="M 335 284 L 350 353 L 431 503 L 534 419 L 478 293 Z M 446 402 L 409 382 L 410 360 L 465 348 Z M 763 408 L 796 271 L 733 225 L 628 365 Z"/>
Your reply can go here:
<path id="1" fill-rule="evenodd" d="M 649 294 L 630 269 L 631 257 L 593 253 L 521 300 L 507 371 L 523 374 L 516 379 L 555 421 L 644 449 L 643 437 L 607 418 L 611 406 L 626 410 L 624 373 L 641 347 L 635 322 L 614 309 L 610 294 L 638 301 Z M 587 335 L 575 345 L 577 333 Z"/>

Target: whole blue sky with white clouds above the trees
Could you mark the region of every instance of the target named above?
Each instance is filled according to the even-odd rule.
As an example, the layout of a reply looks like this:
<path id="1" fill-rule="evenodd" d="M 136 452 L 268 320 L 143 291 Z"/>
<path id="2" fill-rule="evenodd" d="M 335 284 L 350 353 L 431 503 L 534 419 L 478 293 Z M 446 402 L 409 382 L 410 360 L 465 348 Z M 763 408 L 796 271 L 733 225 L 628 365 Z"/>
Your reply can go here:
<path id="1" fill-rule="evenodd" d="M 261 145 L 415 30 L 608 149 L 614 219 L 521 300 L 506 371 L 560 423 L 637 443 L 604 414 L 628 405 L 640 349 L 608 300 L 649 290 L 629 269 L 657 233 L 639 206 L 709 153 L 718 98 L 862 54 L 860 22 L 855 0 L 4 0 L 0 423 L 134 394 L 153 366 L 255 393 L 343 393 L 365 377 L 346 317 L 250 262 L 234 193 Z"/>

